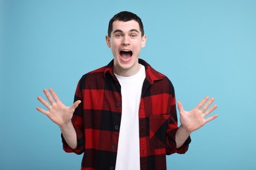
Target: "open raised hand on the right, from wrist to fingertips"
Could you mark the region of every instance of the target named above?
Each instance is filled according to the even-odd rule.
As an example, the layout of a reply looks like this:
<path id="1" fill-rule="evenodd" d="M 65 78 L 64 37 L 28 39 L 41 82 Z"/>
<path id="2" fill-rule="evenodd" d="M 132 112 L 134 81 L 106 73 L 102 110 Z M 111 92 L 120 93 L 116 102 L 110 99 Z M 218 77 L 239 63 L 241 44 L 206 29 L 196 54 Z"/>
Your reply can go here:
<path id="1" fill-rule="evenodd" d="M 205 97 L 194 109 L 190 111 L 184 110 L 181 102 L 178 101 L 177 104 L 180 111 L 181 126 L 184 127 L 188 133 L 192 133 L 192 131 L 196 131 L 207 122 L 217 118 L 217 114 L 209 118 L 205 118 L 205 116 L 217 108 L 217 105 L 213 105 L 213 107 L 209 108 L 213 101 L 213 98 L 209 99 L 209 97 Z"/>

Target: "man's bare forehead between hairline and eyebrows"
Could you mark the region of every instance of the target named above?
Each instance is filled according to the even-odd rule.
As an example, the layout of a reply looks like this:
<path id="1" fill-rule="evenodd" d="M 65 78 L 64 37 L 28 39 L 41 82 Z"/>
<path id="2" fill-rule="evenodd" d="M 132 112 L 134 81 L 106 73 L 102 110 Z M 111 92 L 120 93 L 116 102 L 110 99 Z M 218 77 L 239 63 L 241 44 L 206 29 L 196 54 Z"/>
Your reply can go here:
<path id="1" fill-rule="evenodd" d="M 136 22 L 135 20 L 131 20 L 128 22 L 122 22 L 122 21 L 114 21 L 113 22 L 113 29 L 112 33 L 116 30 L 120 30 L 123 32 L 129 32 L 131 30 L 137 30 L 140 33 L 140 26 L 139 23 Z"/>

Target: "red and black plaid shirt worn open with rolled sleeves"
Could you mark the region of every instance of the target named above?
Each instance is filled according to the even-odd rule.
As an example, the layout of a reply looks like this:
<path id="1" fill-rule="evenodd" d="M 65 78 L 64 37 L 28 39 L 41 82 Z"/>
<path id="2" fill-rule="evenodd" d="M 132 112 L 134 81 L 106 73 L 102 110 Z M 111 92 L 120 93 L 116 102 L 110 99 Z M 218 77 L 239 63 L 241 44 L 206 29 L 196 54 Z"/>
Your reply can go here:
<path id="1" fill-rule="evenodd" d="M 72 150 L 62 137 L 66 152 L 84 154 L 81 169 L 115 169 L 121 122 L 121 86 L 113 73 L 113 60 L 79 80 L 72 122 L 77 133 L 77 148 Z M 190 137 L 176 148 L 177 112 L 173 84 L 146 61 L 139 106 L 140 169 L 166 169 L 165 155 L 188 150 Z"/>

